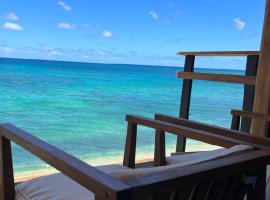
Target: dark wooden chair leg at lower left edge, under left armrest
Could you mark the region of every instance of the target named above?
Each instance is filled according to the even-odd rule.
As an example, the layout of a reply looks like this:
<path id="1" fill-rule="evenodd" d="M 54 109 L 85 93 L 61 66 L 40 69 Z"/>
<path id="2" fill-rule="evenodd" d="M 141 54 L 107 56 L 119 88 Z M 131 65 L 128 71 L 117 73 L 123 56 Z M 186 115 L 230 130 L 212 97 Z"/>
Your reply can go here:
<path id="1" fill-rule="evenodd" d="M 0 199 L 15 200 L 10 141 L 0 136 Z"/>

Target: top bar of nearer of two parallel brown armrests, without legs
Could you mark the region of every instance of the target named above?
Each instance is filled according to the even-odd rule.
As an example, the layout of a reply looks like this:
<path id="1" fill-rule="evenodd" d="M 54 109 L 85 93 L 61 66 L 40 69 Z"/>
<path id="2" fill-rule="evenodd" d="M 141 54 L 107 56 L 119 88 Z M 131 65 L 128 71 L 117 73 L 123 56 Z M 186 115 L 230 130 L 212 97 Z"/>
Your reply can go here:
<path id="1" fill-rule="evenodd" d="M 204 130 L 198 130 L 191 127 L 176 125 L 176 124 L 172 124 L 172 123 L 168 123 L 168 122 L 164 122 L 160 120 L 152 120 L 149 118 L 133 116 L 133 115 L 127 115 L 126 120 L 132 124 L 143 125 L 143 126 L 153 128 L 159 131 L 164 131 L 164 132 L 172 133 L 175 135 L 181 135 L 190 139 L 198 140 L 201 142 L 205 142 L 208 144 L 217 145 L 221 147 L 232 147 L 238 144 L 247 144 L 247 145 L 258 147 L 258 145 L 254 145 L 250 142 L 241 141 L 241 140 L 226 137 L 223 135 L 207 132 Z"/>

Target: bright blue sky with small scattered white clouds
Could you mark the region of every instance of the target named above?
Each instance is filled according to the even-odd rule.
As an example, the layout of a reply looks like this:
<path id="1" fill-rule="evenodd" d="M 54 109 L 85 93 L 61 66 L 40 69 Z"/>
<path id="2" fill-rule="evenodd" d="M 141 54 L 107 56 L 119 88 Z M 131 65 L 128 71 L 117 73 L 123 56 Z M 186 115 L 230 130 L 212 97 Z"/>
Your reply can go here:
<path id="1" fill-rule="evenodd" d="M 0 0 L 0 57 L 183 66 L 178 51 L 259 50 L 265 0 Z M 199 58 L 243 69 L 244 58 Z"/>

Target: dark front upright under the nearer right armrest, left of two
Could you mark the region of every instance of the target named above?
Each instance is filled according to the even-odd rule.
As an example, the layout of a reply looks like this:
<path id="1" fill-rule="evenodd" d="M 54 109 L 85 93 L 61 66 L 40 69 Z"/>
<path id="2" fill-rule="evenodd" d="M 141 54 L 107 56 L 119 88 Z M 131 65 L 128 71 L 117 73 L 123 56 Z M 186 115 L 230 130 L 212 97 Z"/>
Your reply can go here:
<path id="1" fill-rule="evenodd" d="M 128 122 L 123 165 L 135 168 L 137 124 Z"/>

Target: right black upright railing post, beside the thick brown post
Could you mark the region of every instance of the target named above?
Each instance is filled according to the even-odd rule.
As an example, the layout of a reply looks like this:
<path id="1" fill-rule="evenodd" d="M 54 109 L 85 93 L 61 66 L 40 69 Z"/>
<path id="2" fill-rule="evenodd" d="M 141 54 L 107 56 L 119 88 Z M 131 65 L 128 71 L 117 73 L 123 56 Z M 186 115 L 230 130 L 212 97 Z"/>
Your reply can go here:
<path id="1" fill-rule="evenodd" d="M 248 56 L 245 75 L 246 76 L 256 76 L 258 63 L 259 63 L 259 56 L 257 56 L 257 55 Z M 242 110 L 252 111 L 254 92 L 255 92 L 254 85 L 245 85 L 244 86 L 244 99 L 243 99 Z M 251 119 L 246 118 L 246 117 L 242 117 L 240 130 L 243 132 L 249 133 L 250 132 L 250 123 L 251 123 Z"/>

